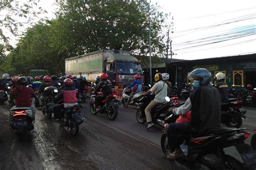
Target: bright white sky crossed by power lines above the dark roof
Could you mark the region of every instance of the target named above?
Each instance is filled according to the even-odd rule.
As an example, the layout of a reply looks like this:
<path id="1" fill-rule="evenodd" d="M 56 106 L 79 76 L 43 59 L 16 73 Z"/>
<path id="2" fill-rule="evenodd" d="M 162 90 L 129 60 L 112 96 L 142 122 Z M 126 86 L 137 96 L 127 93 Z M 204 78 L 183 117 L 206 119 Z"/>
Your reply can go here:
<path id="1" fill-rule="evenodd" d="M 45 2 L 40 5 L 48 10 L 49 18 L 54 17 L 55 1 Z M 256 53 L 255 0 L 151 0 L 151 4 L 156 3 L 174 18 L 173 58 L 193 60 Z"/>

